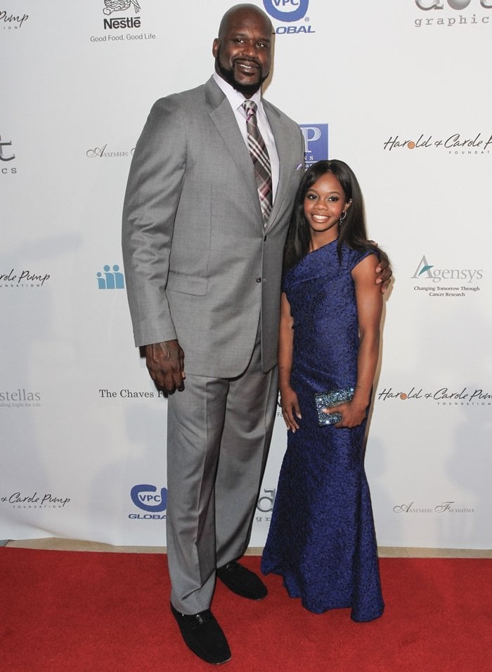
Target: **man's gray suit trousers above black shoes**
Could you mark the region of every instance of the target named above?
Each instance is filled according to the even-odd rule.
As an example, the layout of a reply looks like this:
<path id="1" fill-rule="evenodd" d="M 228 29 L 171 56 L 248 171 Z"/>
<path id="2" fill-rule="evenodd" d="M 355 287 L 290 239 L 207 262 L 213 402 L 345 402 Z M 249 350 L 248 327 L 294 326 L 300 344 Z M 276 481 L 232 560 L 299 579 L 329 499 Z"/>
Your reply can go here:
<path id="1" fill-rule="evenodd" d="M 273 430 L 277 368 L 261 369 L 259 338 L 237 378 L 186 376 L 169 396 L 167 556 L 171 602 L 196 614 L 216 567 L 247 548 Z"/>

